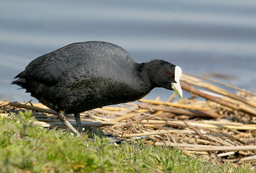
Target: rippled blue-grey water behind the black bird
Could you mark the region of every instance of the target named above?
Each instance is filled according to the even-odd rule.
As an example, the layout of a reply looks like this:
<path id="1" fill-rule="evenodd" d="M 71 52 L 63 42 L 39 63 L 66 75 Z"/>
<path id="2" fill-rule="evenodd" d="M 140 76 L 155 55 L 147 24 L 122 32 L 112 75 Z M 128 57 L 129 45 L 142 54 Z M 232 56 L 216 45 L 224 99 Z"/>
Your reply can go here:
<path id="1" fill-rule="evenodd" d="M 135 61 L 163 59 L 184 72 L 256 92 L 256 1 L 0 1 L 0 100 L 36 100 L 11 85 L 36 57 L 73 42 L 102 40 Z M 166 100 L 172 91 L 146 96 Z M 188 94 L 187 94 L 188 95 Z"/>

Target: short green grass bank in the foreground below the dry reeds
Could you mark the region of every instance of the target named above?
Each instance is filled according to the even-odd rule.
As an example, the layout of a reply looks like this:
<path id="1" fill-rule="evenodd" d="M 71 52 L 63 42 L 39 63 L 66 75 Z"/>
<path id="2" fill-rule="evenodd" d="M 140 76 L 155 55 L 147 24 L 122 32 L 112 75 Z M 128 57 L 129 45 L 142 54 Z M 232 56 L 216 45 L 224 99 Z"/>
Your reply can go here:
<path id="1" fill-rule="evenodd" d="M 0 172 L 171 172 L 248 173 L 244 164 L 215 164 L 170 147 L 140 143 L 88 142 L 63 130 L 33 126 L 30 112 L 0 117 Z"/>

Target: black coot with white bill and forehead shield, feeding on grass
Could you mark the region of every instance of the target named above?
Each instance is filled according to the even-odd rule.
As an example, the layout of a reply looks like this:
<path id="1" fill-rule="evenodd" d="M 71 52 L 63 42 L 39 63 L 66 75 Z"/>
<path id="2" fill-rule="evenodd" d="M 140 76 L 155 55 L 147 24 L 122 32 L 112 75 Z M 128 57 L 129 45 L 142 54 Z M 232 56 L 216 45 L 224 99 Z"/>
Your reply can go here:
<path id="1" fill-rule="evenodd" d="M 72 43 L 39 56 L 18 74 L 12 84 L 58 112 L 73 133 L 80 135 L 80 112 L 131 102 L 153 88 L 173 90 L 182 97 L 181 68 L 163 60 L 136 63 L 122 47 L 103 42 Z M 74 114 L 78 131 L 65 114 Z"/>

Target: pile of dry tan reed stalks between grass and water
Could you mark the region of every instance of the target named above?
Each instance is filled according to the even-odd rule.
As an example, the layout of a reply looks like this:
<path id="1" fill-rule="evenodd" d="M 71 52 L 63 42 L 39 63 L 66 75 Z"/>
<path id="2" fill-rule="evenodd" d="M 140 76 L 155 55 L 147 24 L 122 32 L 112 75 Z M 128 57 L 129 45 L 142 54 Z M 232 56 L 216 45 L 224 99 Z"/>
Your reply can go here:
<path id="1" fill-rule="evenodd" d="M 81 113 L 84 127 L 127 140 L 179 148 L 186 155 L 232 162 L 234 166 L 256 163 L 256 94 L 194 75 L 181 77 L 181 87 L 190 98 L 173 101 L 141 99 L 139 102 L 106 106 Z M 223 88 L 230 88 L 230 92 Z M 28 104 L 29 103 L 29 104 Z M 36 124 L 65 128 L 56 112 L 41 104 L 0 102 L 2 112 L 34 110 Z M 1 115 L 4 115 L 2 113 Z M 67 115 L 73 126 L 73 115 Z"/>

